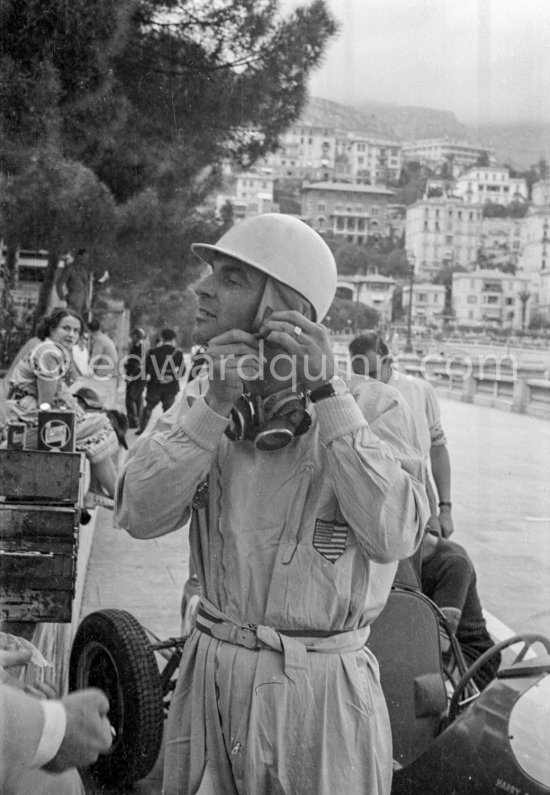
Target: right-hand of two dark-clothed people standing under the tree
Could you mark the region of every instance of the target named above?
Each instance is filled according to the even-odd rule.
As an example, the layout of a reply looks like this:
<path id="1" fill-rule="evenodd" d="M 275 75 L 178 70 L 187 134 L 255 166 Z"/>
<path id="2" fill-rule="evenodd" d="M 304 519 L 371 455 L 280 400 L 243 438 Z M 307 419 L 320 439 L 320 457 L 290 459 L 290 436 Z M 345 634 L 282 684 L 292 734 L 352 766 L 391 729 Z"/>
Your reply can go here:
<path id="1" fill-rule="evenodd" d="M 185 374 L 185 366 L 173 329 L 165 328 L 160 332 L 160 345 L 152 348 L 145 357 L 145 374 L 145 408 L 136 436 L 142 434 L 147 427 L 155 406 L 161 403 L 162 410 L 168 411 L 179 392 L 179 381 Z"/>

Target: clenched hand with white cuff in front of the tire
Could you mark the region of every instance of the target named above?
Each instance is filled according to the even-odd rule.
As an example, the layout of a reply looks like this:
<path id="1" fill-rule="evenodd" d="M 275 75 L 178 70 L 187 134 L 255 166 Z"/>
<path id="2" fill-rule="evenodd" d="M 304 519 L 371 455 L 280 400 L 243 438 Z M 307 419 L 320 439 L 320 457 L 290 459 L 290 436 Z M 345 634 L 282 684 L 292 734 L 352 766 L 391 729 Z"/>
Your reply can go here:
<path id="1" fill-rule="evenodd" d="M 99 754 L 107 753 L 113 740 L 107 718 L 109 702 L 101 690 L 78 690 L 61 703 L 67 713 L 67 728 L 59 751 L 44 767 L 51 773 L 88 767 Z"/>

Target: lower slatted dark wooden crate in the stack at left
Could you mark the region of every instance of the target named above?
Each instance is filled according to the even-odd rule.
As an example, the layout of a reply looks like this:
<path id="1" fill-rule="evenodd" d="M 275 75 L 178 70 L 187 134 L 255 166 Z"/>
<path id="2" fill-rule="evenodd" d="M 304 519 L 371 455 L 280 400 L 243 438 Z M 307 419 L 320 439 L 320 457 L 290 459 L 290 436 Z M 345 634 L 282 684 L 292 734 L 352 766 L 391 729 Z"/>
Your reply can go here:
<path id="1" fill-rule="evenodd" d="M 0 504 L 0 619 L 71 621 L 78 522 L 74 506 Z"/>

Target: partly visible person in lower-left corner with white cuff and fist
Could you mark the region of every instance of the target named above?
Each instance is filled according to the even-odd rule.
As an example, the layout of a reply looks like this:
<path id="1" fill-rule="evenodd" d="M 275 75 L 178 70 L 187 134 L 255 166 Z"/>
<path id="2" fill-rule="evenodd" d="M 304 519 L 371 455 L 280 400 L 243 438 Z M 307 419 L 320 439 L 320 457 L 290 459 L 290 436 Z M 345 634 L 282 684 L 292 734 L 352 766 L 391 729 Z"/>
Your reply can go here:
<path id="1" fill-rule="evenodd" d="M 76 768 L 109 750 L 109 702 L 93 688 L 59 700 L 29 695 L 12 671 L 28 663 L 31 654 L 0 650 L 0 792 L 84 795 Z"/>

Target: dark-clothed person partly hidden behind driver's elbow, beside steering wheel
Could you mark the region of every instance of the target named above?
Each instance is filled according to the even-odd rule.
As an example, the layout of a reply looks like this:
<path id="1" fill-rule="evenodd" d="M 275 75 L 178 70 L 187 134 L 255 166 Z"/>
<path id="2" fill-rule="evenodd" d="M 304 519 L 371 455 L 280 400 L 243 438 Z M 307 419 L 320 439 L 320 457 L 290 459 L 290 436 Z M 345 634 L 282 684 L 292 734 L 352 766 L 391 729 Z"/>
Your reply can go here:
<path id="1" fill-rule="evenodd" d="M 483 617 L 474 564 L 460 544 L 430 532 L 422 542 L 421 561 L 422 592 L 444 613 L 469 666 L 494 645 Z M 448 651 L 449 646 L 444 646 L 445 662 Z M 500 653 L 495 654 L 474 674 L 480 690 L 495 678 L 500 660 Z"/>

